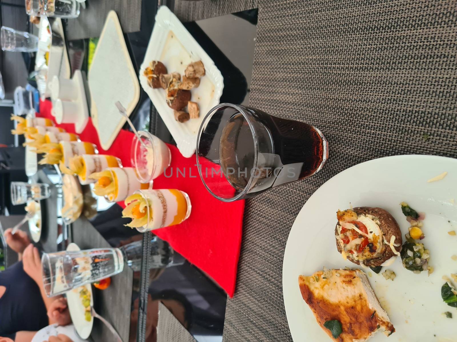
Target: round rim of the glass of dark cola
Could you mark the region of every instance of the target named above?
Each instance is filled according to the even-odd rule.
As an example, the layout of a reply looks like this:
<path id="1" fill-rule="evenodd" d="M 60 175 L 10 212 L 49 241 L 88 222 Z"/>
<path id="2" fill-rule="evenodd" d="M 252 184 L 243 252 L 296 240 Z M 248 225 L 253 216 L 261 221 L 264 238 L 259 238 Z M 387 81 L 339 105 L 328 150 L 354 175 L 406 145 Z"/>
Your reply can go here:
<path id="1" fill-rule="evenodd" d="M 242 197 L 244 197 L 248 193 L 249 189 L 253 185 L 255 177 L 250 177 L 249 178 L 248 183 L 246 184 L 244 189 L 241 192 L 239 192 L 238 195 L 236 195 L 234 197 L 231 197 L 231 198 L 220 197 L 220 196 L 216 195 L 213 191 L 211 191 L 211 189 L 207 186 L 206 182 L 204 181 L 203 174 L 202 174 L 202 167 L 201 167 L 201 164 L 199 163 L 199 160 L 198 160 L 199 159 L 198 145 L 199 145 L 200 139 L 202 137 L 203 127 L 209 122 L 209 120 L 217 112 L 217 110 L 222 108 L 222 107 L 230 107 L 230 108 L 238 110 L 239 113 L 241 113 L 243 115 L 244 119 L 248 123 L 249 128 L 251 130 L 252 138 L 253 138 L 252 140 L 254 141 L 254 168 L 257 167 L 257 162 L 258 162 L 257 156 L 259 155 L 259 143 L 257 141 L 257 135 L 255 134 L 254 125 L 251 122 L 252 119 L 251 119 L 250 115 L 246 112 L 246 110 L 244 109 L 243 105 L 222 103 L 222 104 L 218 104 L 217 106 L 215 106 L 215 107 L 213 107 L 212 109 L 209 110 L 209 112 L 203 118 L 202 124 L 200 125 L 200 129 L 198 130 L 197 146 L 196 146 L 197 169 L 198 169 L 198 174 L 200 175 L 200 179 L 202 180 L 203 185 L 206 187 L 207 191 L 211 195 L 213 195 L 213 197 L 216 197 L 219 201 L 223 201 L 223 202 L 234 202 L 234 201 L 237 201 L 239 199 L 242 199 Z M 224 175 L 224 177 L 225 177 L 225 175 Z"/>

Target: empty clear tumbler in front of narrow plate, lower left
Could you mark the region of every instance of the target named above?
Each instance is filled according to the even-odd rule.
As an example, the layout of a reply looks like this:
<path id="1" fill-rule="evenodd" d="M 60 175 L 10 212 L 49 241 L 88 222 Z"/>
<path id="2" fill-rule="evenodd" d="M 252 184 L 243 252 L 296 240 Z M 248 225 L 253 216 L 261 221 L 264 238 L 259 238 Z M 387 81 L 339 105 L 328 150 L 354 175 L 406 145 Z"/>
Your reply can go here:
<path id="1" fill-rule="evenodd" d="M 121 273 L 124 258 L 118 248 L 43 253 L 44 290 L 48 297 Z"/>

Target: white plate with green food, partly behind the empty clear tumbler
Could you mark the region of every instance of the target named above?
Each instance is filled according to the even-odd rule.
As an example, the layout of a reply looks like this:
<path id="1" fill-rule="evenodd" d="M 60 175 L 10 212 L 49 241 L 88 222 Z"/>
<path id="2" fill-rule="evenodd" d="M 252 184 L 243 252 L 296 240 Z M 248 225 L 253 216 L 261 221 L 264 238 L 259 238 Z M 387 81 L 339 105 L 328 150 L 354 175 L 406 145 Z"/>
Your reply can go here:
<path id="1" fill-rule="evenodd" d="M 71 243 L 68 245 L 67 250 L 80 250 L 77 244 Z M 86 288 L 90 293 L 90 305 L 94 305 L 94 296 L 92 295 L 92 288 L 90 284 L 86 284 L 77 289 L 69 290 L 65 295 L 67 296 L 68 309 L 70 311 L 71 321 L 73 321 L 74 328 L 82 339 L 87 339 L 92 332 L 94 325 L 94 317 L 90 321 L 86 321 L 84 317 L 85 308 L 80 298 L 80 290 Z"/>

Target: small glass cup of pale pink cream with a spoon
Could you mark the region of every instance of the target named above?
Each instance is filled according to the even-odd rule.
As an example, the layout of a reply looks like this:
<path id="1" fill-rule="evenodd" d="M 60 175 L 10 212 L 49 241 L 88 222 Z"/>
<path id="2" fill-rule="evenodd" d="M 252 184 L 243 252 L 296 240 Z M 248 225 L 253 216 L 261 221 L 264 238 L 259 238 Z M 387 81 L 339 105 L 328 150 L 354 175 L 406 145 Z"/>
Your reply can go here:
<path id="1" fill-rule="evenodd" d="M 171 153 L 168 146 L 155 135 L 139 131 L 144 145 L 135 135 L 132 141 L 131 161 L 137 172 L 138 181 L 147 183 L 164 173 L 170 166 Z"/>

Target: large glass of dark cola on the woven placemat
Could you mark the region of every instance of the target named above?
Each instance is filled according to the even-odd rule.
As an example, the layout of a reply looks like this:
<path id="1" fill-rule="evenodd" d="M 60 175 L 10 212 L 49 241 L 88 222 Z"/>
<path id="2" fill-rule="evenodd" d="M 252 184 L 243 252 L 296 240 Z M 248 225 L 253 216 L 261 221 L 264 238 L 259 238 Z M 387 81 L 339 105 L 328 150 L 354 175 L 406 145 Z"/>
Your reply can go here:
<path id="1" fill-rule="evenodd" d="M 219 104 L 197 137 L 197 166 L 207 190 L 232 202 L 318 172 L 328 142 L 312 125 L 250 107 Z"/>

